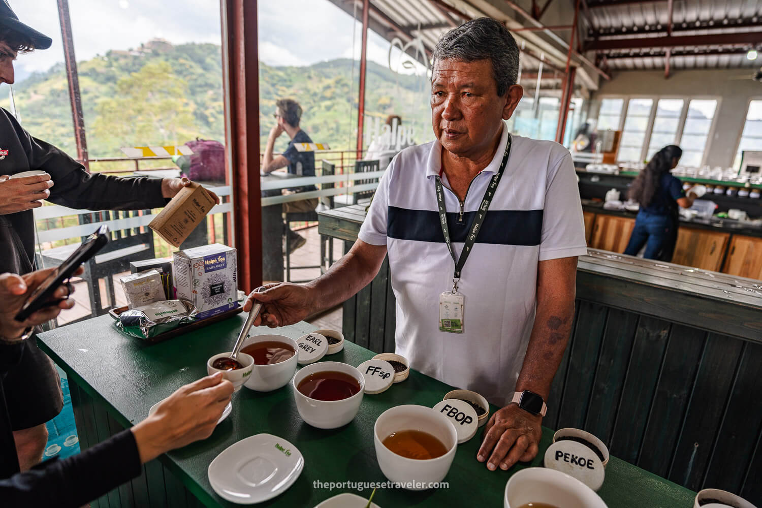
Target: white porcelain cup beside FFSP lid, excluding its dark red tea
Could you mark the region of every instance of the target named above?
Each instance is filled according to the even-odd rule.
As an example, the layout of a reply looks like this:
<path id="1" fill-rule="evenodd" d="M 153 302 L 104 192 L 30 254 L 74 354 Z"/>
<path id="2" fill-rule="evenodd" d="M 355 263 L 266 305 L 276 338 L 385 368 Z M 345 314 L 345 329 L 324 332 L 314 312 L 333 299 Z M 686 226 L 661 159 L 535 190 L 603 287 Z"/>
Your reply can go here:
<path id="1" fill-rule="evenodd" d="M 360 385 L 360 391 L 351 397 L 343 398 L 340 401 L 319 401 L 315 398 L 307 397 L 299 388 L 308 375 L 315 372 L 334 371 L 344 372 L 351 375 Z M 318 362 L 311 363 L 302 367 L 296 375 L 293 376 L 293 397 L 296 400 L 296 411 L 302 419 L 319 429 L 337 429 L 351 422 L 357 411 L 360 410 L 360 403 L 363 401 L 363 392 L 365 391 L 365 378 L 360 371 L 351 365 L 341 362 Z"/>

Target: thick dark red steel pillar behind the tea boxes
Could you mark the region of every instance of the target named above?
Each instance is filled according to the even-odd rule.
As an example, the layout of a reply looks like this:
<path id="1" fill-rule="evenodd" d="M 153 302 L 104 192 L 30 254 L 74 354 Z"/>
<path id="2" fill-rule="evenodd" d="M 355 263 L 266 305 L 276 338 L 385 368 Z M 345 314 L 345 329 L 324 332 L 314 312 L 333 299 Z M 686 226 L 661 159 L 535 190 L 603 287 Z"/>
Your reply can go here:
<path id="1" fill-rule="evenodd" d="M 239 289 L 262 283 L 259 184 L 257 0 L 220 0 L 223 29 L 226 163 L 232 175 L 232 216 Z M 277 239 L 280 241 L 280 238 Z"/>

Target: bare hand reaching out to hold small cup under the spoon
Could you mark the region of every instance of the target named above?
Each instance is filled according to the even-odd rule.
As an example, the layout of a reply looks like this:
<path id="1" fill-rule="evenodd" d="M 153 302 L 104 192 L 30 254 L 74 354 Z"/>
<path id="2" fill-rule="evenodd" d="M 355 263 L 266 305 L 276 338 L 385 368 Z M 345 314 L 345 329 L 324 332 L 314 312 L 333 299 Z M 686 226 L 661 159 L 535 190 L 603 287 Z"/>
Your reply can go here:
<path id="1" fill-rule="evenodd" d="M 233 394 L 233 385 L 216 372 L 178 388 L 156 411 L 132 428 L 140 462 L 212 435 Z"/>

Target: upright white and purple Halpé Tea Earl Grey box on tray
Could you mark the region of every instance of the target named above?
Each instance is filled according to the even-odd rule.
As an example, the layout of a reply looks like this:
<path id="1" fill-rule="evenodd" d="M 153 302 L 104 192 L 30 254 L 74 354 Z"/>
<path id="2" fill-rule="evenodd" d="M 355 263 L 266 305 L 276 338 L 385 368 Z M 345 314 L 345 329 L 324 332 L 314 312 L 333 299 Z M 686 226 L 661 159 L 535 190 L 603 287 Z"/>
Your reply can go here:
<path id="1" fill-rule="evenodd" d="M 210 318 L 238 307 L 238 269 L 235 249 L 203 245 L 174 253 L 177 298 L 192 302 L 197 319 Z"/>

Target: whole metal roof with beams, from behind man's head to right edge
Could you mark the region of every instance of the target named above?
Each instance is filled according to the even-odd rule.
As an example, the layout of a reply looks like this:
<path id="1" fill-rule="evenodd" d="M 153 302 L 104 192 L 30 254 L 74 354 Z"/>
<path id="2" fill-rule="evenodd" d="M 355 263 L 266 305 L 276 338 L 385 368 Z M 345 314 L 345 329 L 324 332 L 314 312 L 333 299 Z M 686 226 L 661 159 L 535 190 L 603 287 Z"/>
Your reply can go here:
<path id="1" fill-rule="evenodd" d="M 363 0 L 331 0 L 349 14 Z M 565 2 L 566 5 L 562 5 Z M 598 74 L 619 69 L 739 69 L 762 64 L 762 0 L 578 0 L 578 26 L 572 65 L 578 83 L 594 90 Z M 439 37 L 480 16 L 504 21 L 522 46 L 524 71 L 565 72 L 569 26 L 546 27 L 546 12 L 573 11 L 575 0 L 370 0 L 370 28 L 403 45 L 420 36 L 426 57 Z M 530 5 L 523 8 L 522 5 Z M 570 20 L 571 21 L 571 20 Z M 756 61 L 746 58 L 757 49 Z M 408 48 L 408 53 L 411 51 Z M 585 55 L 590 59 L 585 58 Z M 594 55 L 594 56 L 591 56 Z M 546 86 L 543 78 L 543 88 Z M 552 85 L 549 85 L 552 86 Z"/>

